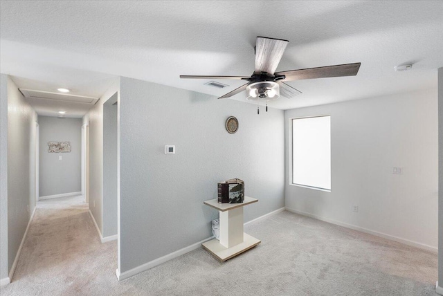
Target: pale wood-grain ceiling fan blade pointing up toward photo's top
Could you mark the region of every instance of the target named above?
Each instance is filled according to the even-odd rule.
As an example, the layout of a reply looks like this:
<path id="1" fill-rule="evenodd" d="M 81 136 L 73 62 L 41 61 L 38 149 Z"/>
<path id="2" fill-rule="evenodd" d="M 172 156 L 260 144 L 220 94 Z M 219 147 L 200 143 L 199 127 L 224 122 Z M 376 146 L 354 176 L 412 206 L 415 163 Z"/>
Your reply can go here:
<path id="1" fill-rule="evenodd" d="M 289 41 L 266 37 L 257 37 L 255 43 L 255 74 L 262 72 L 272 75 L 282 59 Z"/>

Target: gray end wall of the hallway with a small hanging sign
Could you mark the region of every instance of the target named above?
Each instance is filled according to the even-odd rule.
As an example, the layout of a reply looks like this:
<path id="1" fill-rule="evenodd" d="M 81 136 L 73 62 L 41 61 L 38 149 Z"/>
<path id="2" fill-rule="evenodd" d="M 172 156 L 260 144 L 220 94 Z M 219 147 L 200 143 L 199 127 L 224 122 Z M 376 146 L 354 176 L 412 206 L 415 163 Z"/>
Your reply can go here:
<path id="1" fill-rule="evenodd" d="M 81 192 L 82 119 L 39 116 L 39 126 L 39 196 Z M 62 141 L 71 142 L 71 152 L 48 152 L 48 142 Z"/>

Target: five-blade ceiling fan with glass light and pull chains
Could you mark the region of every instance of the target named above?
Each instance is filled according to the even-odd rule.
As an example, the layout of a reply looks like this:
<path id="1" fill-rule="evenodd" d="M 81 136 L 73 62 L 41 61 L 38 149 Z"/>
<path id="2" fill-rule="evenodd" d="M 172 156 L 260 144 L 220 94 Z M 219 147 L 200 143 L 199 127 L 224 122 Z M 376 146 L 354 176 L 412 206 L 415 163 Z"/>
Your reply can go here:
<path id="1" fill-rule="evenodd" d="M 257 37 L 255 42 L 255 69 L 251 77 L 180 75 L 180 78 L 245 80 L 248 83 L 226 93 L 226 95 L 222 95 L 219 99 L 229 98 L 246 90 L 248 93 L 247 100 L 266 101 L 266 111 L 268 111 L 268 101 L 276 100 L 280 96 L 293 98 L 301 93 L 284 83 L 286 81 L 354 76 L 359 72 L 361 63 L 275 72 L 288 43 L 288 40 L 283 39 Z M 257 110 L 257 113 L 260 113 L 260 111 Z"/>

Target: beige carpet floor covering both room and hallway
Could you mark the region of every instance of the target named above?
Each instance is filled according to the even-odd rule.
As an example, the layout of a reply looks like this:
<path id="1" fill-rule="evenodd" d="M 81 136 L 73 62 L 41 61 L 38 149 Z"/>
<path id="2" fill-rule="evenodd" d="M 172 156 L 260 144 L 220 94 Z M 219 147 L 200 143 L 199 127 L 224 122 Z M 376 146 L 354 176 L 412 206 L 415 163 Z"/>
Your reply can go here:
<path id="1" fill-rule="evenodd" d="M 80 197 L 37 207 L 2 296 L 436 295 L 437 255 L 290 212 L 246 225 L 262 243 L 225 263 L 199 249 L 119 282 Z"/>

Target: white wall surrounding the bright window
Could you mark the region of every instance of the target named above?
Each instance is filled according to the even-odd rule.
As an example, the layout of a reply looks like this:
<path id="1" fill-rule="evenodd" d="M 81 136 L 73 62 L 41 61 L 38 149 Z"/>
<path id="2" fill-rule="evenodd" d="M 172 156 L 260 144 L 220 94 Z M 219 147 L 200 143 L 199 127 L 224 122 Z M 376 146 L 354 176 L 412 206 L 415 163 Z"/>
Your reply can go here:
<path id="1" fill-rule="evenodd" d="M 314 115 L 331 115 L 331 192 L 290 185 L 290 118 Z M 285 118 L 287 208 L 436 250 L 435 90 L 292 109 Z"/>

